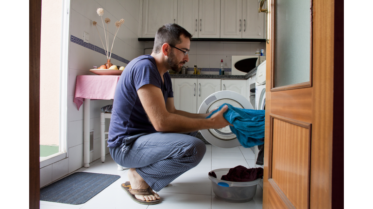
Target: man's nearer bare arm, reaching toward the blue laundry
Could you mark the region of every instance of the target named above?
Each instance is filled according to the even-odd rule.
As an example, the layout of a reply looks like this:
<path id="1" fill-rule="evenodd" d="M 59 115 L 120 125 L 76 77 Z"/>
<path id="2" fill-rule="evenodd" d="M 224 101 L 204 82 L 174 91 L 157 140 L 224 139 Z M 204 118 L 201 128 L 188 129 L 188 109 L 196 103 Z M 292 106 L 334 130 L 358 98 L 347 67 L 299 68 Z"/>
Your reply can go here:
<path id="1" fill-rule="evenodd" d="M 184 114 L 184 111 L 173 110 L 171 112 L 174 113 L 170 113 L 166 108 L 162 91 L 152 84 L 142 86 L 137 90 L 137 94 L 155 130 L 159 132 L 183 133 L 202 129 L 220 129 L 230 124 L 223 117 L 223 113 L 228 107 L 222 108 L 209 119 L 204 119 L 203 116 L 203 118 L 189 118 L 176 114 Z M 170 104 L 168 104 L 168 108 L 172 108 Z"/>

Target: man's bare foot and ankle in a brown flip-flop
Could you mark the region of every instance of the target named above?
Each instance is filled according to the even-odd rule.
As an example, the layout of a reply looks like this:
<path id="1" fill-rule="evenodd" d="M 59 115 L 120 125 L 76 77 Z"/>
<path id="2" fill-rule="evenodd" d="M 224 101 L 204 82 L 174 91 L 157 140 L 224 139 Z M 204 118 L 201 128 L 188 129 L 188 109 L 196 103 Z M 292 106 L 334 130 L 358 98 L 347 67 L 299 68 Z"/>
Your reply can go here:
<path id="1" fill-rule="evenodd" d="M 145 182 L 144 179 L 136 172 L 135 168 L 130 168 L 127 173 L 128 179 L 131 183 L 132 189 L 148 189 L 149 185 Z M 136 194 L 136 199 L 143 200 L 143 201 L 151 201 L 160 199 L 159 195 L 152 192 L 153 195 L 139 195 Z"/>

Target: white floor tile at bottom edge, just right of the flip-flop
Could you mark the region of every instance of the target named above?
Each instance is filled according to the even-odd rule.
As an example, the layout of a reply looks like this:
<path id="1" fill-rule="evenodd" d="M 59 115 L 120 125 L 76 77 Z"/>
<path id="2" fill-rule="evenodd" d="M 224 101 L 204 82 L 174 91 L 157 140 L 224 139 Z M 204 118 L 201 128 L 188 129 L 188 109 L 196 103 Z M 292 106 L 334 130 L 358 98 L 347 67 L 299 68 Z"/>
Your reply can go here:
<path id="1" fill-rule="evenodd" d="M 161 202 L 148 209 L 211 209 L 211 195 L 159 192 Z M 127 207 L 126 207 L 127 208 Z"/>

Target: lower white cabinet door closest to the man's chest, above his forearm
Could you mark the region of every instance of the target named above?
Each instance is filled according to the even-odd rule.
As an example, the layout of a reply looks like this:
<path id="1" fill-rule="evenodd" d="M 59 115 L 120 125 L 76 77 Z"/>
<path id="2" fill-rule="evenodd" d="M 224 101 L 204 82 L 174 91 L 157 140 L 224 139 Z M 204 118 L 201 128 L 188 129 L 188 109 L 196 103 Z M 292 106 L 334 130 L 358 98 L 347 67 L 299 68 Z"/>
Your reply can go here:
<path id="1" fill-rule="evenodd" d="M 175 78 L 173 100 L 175 108 L 197 113 L 197 79 Z"/>

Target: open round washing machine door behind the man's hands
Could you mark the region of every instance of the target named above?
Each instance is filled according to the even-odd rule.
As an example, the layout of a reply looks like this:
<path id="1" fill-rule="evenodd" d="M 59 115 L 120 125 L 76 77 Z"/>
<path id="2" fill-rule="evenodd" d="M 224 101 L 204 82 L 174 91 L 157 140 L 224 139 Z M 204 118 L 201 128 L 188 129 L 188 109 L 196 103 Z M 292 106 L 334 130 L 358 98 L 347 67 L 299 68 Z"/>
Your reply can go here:
<path id="1" fill-rule="evenodd" d="M 223 90 L 208 96 L 201 104 L 198 113 L 209 113 L 221 104 L 231 104 L 243 109 L 254 109 L 253 105 L 241 94 Z M 220 148 L 233 148 L 240 145 L 236 134 L 233 134 L 229 126 L 222 129 L 205 129 L 200 131 L 202 136 L 212 145 Z"/>

